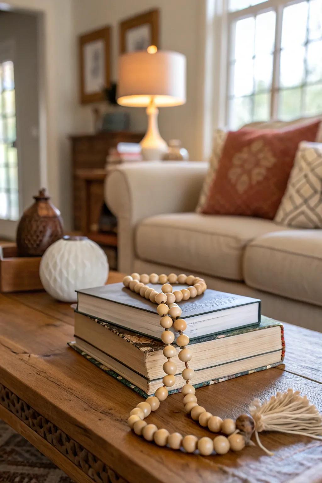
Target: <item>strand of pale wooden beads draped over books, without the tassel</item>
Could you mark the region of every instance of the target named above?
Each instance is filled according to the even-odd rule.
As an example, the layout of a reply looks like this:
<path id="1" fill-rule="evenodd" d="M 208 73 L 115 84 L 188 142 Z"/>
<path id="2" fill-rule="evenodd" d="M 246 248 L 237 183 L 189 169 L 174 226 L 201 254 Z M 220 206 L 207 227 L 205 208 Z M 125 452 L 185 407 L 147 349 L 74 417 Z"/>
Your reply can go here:
<path id="1" fill-rule="evenodd" d="M 149 287 L 148 283 L 162 284 L 162 292 L 158 293 Z M 193 453 L 198 449 L 201 455 L 211 455 L 215 451 L 218 455 L 224 455 L 229 451 L 240 451 L 244 448 L 251 438 L 254 430 L 254 421 L 251 416 L 242 414 L 236 420 L 224 419 L 219 416 L 213 416 L 207 412 L 205 408 L 199 406 L 196 398 L 196 389 L 190 384 L 194 377 L 194 370 L 189 367 L 188 362 L 192 359 L 192 352 L 187 348 L 189 345 L 189 337 L 184 334 L 187 323 L 181 318 L 182 310 L 177 302 L 195 298 L 203 294 L 207 290 L 207 285 L 203 278 L 194 275 L 185 275 L 181 273 L 176 275 L 170 273 L 168 276 L 164 273 L 157 275 L 151 273 L 132 273 L 123 279 L 123 284 L 130 290 L 140 294 L 141 297 L 151 300 L 157 304 L 156 311 L 160 315 L 160 326 L 164 329 L 161 335 L 162 342 L 165 344 L 163 355 L 167 361 L 163 364 L 163 370 L 166 375 L 162 379 L 163 385 L 158 387 L 154 396 L 150 396 L 145 402 L 140 402 L 132 409 L 127 420 L 128 426 L 138 436 L 143 436 L 147 441 L 154 441 L 159 446 L 168 446 L 173 450 L 183 448 L 187 453 Z M 173 291 L 172 284 L 187 284 L 187 288 Z M 156 411 L 160 406 L 160 401 L 164 401 L 168 397 L 168 387 L 175 384 L 175 374 L 177 366 L 172 362 L 171 358 L 176 355 L 176 349 L 172 345 L 174 341 L 174 333 L 169 330 L 173 329 L 179 333 L 177 345 L 180 347 L 178 354 L 179 360 L 184 362 L 185 368 L 182 370 L 182 378 L 185 384 L 182 387 L 184 409 L 189 413 L 193 420 L 197 421 L 200 426 L 208 427 L 212 433 L 223 433 L 214 439 L 203 437 L 198 439 L 194 435 L 182 436 L 180 433 L 169 434 L 165 428 L 158 429 L 154 424 L 147 424 L 144 419 L 151 413 Z"/>

